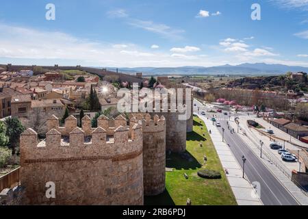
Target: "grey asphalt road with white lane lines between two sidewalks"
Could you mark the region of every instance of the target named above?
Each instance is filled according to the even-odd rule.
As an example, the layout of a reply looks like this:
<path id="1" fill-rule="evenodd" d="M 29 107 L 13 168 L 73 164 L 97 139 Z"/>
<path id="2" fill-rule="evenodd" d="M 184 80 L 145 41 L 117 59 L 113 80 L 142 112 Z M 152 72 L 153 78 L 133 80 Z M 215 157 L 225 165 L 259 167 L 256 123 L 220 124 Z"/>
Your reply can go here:
<path id="1" fill-rule="evenodd" d="M 206 116 L 202 116 L 201 118 L 207 119 L 207 117 L 209 117 L 209 119 L 211 119 L 212 114 L 206 114 Z M 224 141 L 230 145 L 230 149 L 239 164 L 243 165 L 242 156 L 244 155 L 246 157 L 244 168 L 246 177 L 251 182 L 257 181 L 260 183 L 260 198 L 264 205 L 298 205 L 296 199 L 285 189 L 285 187 L 283 187 L 283 185 L 281 185 L 281 182 L 272 175 L 272 172 L 264 166 L 264 164 L 259 160 L 259 157 L 251 151 L 247 145 L 250 144 L 250 142 L 244 142 L 237 133 L 231 134 L 227 125 L 227 119 L 229 119 L 229 116 L 224 116 L 223 114 L 216 115 L 218 116 L 218 121 L 225 129 Z M 232 116 L 234 116 L 234 114 Z M 218 128 L 220 133 L 222 133 L 222 127 Z"/>

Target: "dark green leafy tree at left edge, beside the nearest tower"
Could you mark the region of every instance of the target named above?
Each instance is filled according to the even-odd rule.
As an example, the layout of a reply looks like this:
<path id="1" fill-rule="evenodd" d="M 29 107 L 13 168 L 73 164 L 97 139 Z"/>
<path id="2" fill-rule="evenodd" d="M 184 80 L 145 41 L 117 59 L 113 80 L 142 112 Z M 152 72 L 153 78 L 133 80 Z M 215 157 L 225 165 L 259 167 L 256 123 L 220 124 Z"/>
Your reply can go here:
<path id="1" fill-rule="evenodd" d="M 19 146 L 19 137 L 25 131 L 25 127 L 21 124 L 18 118 L 5 118 L 6 136 L 9 138 L 8 147 L 12 149 L 12 154 L 16 153 L 16 148 Z"/>

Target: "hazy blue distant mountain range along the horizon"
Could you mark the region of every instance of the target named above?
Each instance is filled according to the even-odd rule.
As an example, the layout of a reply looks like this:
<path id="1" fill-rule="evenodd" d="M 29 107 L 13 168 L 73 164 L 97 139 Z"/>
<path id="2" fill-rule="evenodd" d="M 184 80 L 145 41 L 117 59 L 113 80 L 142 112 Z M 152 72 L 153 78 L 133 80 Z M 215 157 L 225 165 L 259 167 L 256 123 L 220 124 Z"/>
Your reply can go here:
<path id="1" fill-rule="evenodd" d="M 108 70 L 116 70 L 116 68 L 108 68 Z M 142 72 L 144 75 L 281 75 L 287 72 L 305 72 L 308 68 L 303 66 L 286 66 L 283 64 L 240 64 L 231 66 L 229 64 L 223 66 L 182 66 L 176 68 L 118 68 L 119 72 L 136 73 Z"/>

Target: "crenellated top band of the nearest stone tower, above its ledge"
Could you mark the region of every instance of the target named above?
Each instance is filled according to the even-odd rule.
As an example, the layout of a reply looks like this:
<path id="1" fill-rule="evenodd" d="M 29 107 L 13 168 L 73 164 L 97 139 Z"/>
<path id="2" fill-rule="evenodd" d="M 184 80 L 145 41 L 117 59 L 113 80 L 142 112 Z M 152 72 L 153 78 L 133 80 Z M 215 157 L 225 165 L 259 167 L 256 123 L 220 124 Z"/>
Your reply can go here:
<path id="1" fill-rule="evenodd" d="M 53 116 L 53 121 L 55 121 Z M 66 120 L 75 124 L 73 116 Z M 86 118 L 84 123 L 88 123 Z M 27 129 L 21 134 L 22 163 L 51 162 L 63 159 L 126 159 L 142 153 L 142 125 L 129 128 L 119 126 L 109 135 L 103 127 L 94 129 L 89 137 L 87 129 L 73 128 L 66 136 L 69 127 L 57 127 L 46 134 L 46 139 L 38 142 L 38 134 Z M 62 131 L 62 132 L 61 132 Z M 65 133 L 64 137 L 62 133 Z M 87 137 L 85 137 L 87 136 Z"/>

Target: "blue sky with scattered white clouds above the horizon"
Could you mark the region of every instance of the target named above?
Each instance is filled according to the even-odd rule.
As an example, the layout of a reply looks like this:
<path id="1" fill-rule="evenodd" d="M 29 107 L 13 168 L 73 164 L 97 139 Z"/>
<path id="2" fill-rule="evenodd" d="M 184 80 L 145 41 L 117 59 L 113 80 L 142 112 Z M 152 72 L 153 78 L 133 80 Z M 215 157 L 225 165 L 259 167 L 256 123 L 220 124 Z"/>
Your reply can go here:
<path id="1" fill-rule="evenodd" d="M 47 21 L 47 3 L 55 21 Z M 261 5 L 261 21 L 251 5 Z M 1 0 L 0 63 L 308 66 L 308 0 Z"/>

